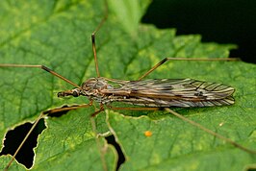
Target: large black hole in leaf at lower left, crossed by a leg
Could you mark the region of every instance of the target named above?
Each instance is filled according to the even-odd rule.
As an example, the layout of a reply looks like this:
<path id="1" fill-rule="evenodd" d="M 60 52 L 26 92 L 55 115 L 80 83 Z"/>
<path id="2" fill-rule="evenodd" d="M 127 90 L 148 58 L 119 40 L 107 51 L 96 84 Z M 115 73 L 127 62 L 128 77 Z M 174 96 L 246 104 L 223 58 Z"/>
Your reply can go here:
<path id="1" fill-rule="evenodd" d="M 0 156 L 3 155 L 12 155 L 15 153 L 16 149 L 26 136 L 28 132 L 30 131 L 31 127 L 33 126 L 32 123 L 25 123 L 20 126 L 17 126 L 11 131 L 8 131 L 8 133 L 5 136 L 4 140 L 4 148 L 2 149 L 2 152 L 0 153 Z M 46 128 L 44 124 L 44 119 L 40 119 L 38 121 L 38 124 L 34 131 L 29 135 L 28 139 L 25 141 L 19 152 L 17 153 L 15 159 L 25 165 L 27 168 L 31 168 L 33 165 L 33 160 L 35 157 L 35 153 L 33 149 L 37 147 L 38 144 L 38 134 L 41 134 L 41 132 Z"/>

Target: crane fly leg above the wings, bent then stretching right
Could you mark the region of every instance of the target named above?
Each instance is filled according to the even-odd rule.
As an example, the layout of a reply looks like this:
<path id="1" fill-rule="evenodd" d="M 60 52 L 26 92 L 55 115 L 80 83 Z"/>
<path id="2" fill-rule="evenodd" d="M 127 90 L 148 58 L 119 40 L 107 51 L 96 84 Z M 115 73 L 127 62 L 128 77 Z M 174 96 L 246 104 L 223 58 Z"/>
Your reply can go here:
<path id="1" fill-rule="evenodd" d="M 144 73 L 138 80 L 143 79 L 151 72 L 153 72 L 156 68 L 164 64 L 166 61 L 239 61 L 238 58 L 225 58 L 225 59 L 200 59 L 200 58 L 193 58 L 193 59 L 186 59 L 186 58 L 165 58 L 164 60 L 158 62 L 154 65 L 151 69 L 149 69 L 146 73 Z"/>

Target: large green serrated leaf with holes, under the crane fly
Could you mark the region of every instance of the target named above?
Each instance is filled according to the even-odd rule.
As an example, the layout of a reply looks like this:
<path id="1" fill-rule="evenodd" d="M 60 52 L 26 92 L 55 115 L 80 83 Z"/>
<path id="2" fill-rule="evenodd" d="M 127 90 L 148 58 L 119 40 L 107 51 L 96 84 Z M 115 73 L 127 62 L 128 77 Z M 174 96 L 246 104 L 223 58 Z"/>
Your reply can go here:
<path id="1" fill-rule="evenodd" d="M 137 18 L 146 5 L 143 1 L 136 5 L 140 7 L 136 8 Z M 111 5 L 108 20 L 96 35 L 102 77 L 136 80 L 165 57 L 226 58 L 235 47 L 202 43 L 200 36 L 175 36 L 173 29 L 136 26 L 138 19 L 123 19 L 113 8 Z M 96 76 L 90 34 L 103 16 L 103 1 L 1 1 L 0 63 L 44 64 L 80 85 Z M 128 26 L 133 29 L 125 29 Z M 256 149 L 255 74 L 256 66 L 243 61 L 168 61 L 148 78 L 193 78 L 234 86 L 233 106 L 174 110 Z M 72 85 L 37 68 L 0 68 L 0 79 L 1 139 L 9 129 L 34 121 L 44 110 L 89 103 L 85 97 L 59 99 L 56 93 Z M 90 124 L 94 110 L 72 110 L 60 118 L 46 119 L 47 129 L 39 135 L 35 149 L 34 168 L 102 170 Z M 242 170 L 256 162 L 255 156 L 164 111 L 106 112 L 97 115 L 96 128 L 98 133 L 113 129 L 126 158 L 120 170 Z M 152 136 L 145 136 L 145 131 Z M 107 146 L 103 137 L 99 141 L 107 148 L 109 170 L 115 170 L 115 148 Z M 10 159 L 1 157 L 0 168 Z M 24 167 L 14 161 L 10 170 Z"/>

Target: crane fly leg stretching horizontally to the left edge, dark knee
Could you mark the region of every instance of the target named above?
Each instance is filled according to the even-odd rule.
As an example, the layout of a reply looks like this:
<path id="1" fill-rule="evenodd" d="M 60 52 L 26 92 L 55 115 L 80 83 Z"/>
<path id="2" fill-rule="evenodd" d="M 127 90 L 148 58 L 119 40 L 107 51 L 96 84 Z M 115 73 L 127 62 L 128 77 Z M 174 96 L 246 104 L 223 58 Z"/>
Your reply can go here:
<path id="1" fill-rule="evenodd" d="M 64 82 L 73 85 L 75 87 L 81 88 L 79 85 L 74 84 L 73 82 L 71 82 L 70 80 L 64 78 L 64 76 L 58 74 L 57 72 L 51 70 L 50 68 L 44 66 L 44 65 L 40 65 L 40 64 L 0 64 L 0 67 L 35 67 L 35 68 L 40 68 L 42 70 L 45 70 L 49 73 L 51 73 L 52 75 L 64 80 Z"/>

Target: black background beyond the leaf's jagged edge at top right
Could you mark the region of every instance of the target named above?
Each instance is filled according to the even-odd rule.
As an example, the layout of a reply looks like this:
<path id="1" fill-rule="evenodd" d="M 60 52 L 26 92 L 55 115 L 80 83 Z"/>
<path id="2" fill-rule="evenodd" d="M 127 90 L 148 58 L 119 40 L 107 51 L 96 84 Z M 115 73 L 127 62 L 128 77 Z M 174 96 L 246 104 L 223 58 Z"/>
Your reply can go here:
<path id="1" fill-rule="evenodd" d="M 256 0 L 154 0 L 142 22 L 199 34 L 203 42 L 237 44 L 230 57 L 256 63 Z"/>

